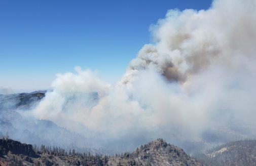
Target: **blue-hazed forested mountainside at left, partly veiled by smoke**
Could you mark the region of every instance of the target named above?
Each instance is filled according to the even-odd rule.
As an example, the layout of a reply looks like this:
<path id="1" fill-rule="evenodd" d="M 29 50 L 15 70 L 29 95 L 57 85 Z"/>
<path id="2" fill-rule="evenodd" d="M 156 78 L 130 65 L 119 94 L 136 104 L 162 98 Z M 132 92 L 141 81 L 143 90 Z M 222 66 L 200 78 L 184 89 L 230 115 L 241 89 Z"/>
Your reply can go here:
<path id="1" fill-rule="evenodd" d="M 9 136 L 17 141 L 30 144 L 60 146 L 66 149 L 75 148 L 79 151 L 96 151 L 99 145 L 89 141 L 85 135 L 59 127 L 50 120 L 22 115 L 36 107 L 45 95 L 46 91 L 0 95 L 0 138 Z M 95 99 L 97 96 L 93 95 L 91 98 Z M 70 94 L 65 102 L 66 105 L 68 106 L 68 102 L 73 102 L 72 100 L 76 97 L 89 98 L 88 94 Z"/>

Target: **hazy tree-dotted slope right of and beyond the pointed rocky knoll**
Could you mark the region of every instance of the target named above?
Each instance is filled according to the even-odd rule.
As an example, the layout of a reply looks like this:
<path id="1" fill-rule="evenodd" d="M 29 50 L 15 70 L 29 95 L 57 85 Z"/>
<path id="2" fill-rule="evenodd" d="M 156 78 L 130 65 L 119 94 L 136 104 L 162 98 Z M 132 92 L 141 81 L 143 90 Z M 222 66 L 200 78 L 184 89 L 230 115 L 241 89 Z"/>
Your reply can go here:
<path id="1" fill-rule="evenodd" d="M 205 153 L 198 153 L 195 157 L 212 166 L 256 165 L 256 140 L 229 142 Z"/>

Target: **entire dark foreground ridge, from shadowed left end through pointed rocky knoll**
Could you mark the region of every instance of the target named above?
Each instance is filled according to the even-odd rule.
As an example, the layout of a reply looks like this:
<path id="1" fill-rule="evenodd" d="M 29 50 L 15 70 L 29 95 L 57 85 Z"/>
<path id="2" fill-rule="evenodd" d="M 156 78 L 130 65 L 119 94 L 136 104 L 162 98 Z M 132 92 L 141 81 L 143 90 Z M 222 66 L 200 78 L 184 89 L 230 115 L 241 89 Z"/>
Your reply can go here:
<path id="1" fill-rule="evenodd" d="M 65 152 L 57 147 L 39 148 L 14 140 L 0 139 L 0 165 L 203 165 L 181 148 L 157 139 L 133 153 L 116 156 Z"/>

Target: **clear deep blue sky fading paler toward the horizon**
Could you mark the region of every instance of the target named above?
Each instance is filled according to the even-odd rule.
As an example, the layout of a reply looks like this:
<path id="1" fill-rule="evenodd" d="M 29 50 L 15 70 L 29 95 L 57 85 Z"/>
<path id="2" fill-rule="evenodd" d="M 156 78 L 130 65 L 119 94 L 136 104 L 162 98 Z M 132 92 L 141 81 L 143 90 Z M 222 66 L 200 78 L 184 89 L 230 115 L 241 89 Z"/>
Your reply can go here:
<path id="1" fill-rule="evenodd" d="M 46 89 L 75 66 L 115 82 L 168 9 L 211 0 L 0 0 L 0 88 Z"/>

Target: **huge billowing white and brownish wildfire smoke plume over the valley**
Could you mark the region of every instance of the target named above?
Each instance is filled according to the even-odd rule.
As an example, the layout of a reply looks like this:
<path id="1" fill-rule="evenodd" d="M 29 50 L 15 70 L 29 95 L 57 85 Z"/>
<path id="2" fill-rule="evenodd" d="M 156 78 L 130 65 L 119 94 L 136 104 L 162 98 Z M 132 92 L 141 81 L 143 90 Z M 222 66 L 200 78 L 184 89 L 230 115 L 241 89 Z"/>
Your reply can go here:
<path id="1" fill-rule="evenodd" d="M 76 122 L 105 139 L 127 138 L 127 144 L 144 137 L 196 142 L 210 142 L 212 135 L 255 137 L 256 1 L 218 0 L 206 11 L 170 10 L 151 31 L 155 43 L 139 51 L 117 85 L 80 68 L 58 74 L 54 91 L 34 115 L 79 132 Z M 74 100 L 67 102 L 70 94 Z"/>

